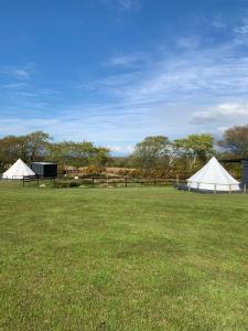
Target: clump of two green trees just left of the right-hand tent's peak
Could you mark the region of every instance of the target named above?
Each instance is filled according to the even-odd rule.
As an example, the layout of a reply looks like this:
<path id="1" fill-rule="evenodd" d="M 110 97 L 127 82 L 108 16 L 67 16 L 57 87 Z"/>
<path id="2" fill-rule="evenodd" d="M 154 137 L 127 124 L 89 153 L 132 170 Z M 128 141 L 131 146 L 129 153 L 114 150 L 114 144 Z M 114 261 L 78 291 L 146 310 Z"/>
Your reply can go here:
<path id="1" fill-rule="evenodd" d="M 213 143 L 211 135 L 191 135 L 174 141 L 163 136 L 148 137 L 137 143 L 133 166 L 141 168 L 148 177 L 192 172 L 213 154 Z"/>

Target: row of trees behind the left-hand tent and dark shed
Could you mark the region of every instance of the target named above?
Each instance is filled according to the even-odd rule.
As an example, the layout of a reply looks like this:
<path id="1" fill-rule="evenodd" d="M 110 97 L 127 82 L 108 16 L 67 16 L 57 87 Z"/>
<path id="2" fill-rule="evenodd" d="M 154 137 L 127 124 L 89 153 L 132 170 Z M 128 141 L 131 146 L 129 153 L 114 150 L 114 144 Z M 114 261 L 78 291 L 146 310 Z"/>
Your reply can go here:
<path id="1" fill-rule="evenodd" d="M 43 131 L 0 139 L 0 168 L 6 169 L 19 158 L 26 163 L 54 161 L 74 167 L 104 167 L 110 160 L 110 151 L 104 147 L 96 147 L 90 141 L 54 142 L 52 137 Z"/>

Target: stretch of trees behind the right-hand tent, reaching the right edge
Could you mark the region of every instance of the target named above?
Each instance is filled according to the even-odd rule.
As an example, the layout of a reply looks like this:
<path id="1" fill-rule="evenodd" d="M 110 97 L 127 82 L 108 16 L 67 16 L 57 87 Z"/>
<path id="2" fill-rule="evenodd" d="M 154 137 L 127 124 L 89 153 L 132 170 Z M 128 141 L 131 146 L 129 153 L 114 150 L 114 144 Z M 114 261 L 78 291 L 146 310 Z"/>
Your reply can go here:
<path id="1" fill-rule="evenodd" d="M 212 135 L 190 135 L 171 141 L 165 136 L 147 137 L 137 143 L 132 162 L 142 172 L 192 173 L 212 156 L 218 159 L 248 159 L 248 125 L 235 126 L 224 131 L 220 140 Z M 233 164 L 229 167 L 237 167 Z"/>

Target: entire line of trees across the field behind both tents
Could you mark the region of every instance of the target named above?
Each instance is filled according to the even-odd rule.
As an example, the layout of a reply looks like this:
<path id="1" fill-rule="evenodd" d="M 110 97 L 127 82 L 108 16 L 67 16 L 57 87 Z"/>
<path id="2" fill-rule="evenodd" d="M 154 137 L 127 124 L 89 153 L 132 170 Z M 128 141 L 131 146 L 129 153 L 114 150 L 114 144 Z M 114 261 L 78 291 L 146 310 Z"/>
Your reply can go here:
<path id="1" fill-rule="evenodd" d="M 0 170 L 18 158 L 26 163 L 54 161 L 61 166 L 136 168 L 142 175 L 165 175 L 175 172 L 191 173 L 212 156 L 222 159 L 248 159 L 248 125 L 227 129 L 219 141 L 212 135 L 190 135 L 170 140 L 166 136 L 147 137 L 138 142 L 131 156 L 114 158 L 110 150 L 90 141 L 55 142 L 43 131 L 25 136 L 7 136 L 0 139 Z"/>

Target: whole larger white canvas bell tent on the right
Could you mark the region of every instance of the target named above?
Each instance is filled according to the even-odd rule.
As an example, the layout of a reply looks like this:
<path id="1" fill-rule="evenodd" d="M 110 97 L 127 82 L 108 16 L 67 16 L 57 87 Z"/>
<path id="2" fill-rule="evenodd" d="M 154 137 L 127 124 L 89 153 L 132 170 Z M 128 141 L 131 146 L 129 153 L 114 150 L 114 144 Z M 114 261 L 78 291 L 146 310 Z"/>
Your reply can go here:
<path id="1" fill-rule="evenodd" d="M 236 181 L 216 158 L 212 158 L 200 171 L 187 179 L 190 189 L 207 191 L 239 191 Z"/>

